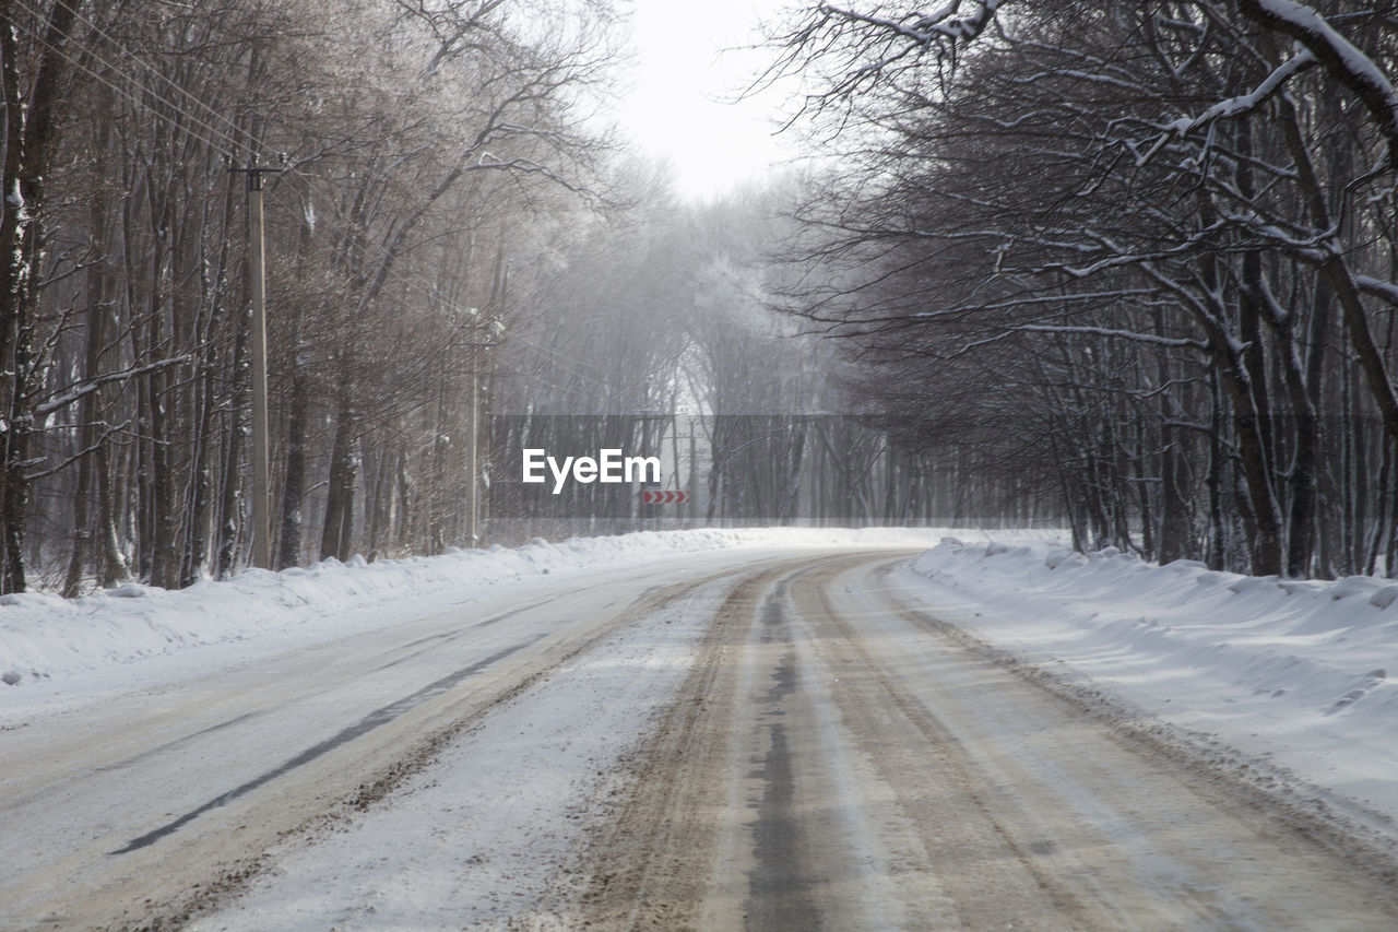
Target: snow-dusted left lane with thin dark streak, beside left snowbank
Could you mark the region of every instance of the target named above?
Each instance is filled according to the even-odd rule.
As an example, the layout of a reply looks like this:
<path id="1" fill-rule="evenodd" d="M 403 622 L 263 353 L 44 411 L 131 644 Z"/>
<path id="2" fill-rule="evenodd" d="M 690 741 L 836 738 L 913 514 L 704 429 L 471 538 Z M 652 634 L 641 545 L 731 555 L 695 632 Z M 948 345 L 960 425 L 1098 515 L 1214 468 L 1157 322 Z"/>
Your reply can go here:
<path id="1" fill-rule="evenodd" d="M 425 600 L 417 616 L 382 606 L 391 624 L 358 620 L 291 648 L 211 645 L 185 652 L 194 676 L 164 665 L 165 679 L 133 691 L 41 704 L 0 732 L 0 821 L 27 840 L 0 859 L 0 928 L 141 925 L 150 904 L 183 915 L 278 838 L 369 806 L 487 711 L 575 669 L 637 617 L 654 621 L 672 592 L 769 557 L 671 557 L 658 574 L 654 561 L 589 567 L 467 589 L 450 607 Z M 667 663 L 682 669 L 684 656 Z M 563 709 L 576 725 L 577 707 Z M 605 728 L 636 735 L 636 715 L 617 704 Z M 491 753 L 506 758 L 502 785 L 538 779 L 537 761 Z"/>

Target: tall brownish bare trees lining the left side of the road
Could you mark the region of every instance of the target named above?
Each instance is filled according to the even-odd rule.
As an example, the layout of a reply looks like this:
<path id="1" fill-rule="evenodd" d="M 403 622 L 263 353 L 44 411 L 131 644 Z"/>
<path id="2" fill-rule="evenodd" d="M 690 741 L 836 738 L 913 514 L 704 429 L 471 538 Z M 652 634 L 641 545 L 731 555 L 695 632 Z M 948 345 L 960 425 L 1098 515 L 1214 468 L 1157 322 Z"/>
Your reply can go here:
<path id="1" fill-rule="evenodd" d="M 0 3 L 0 589 L 246 565 L 249 168 L 267 169 L 274 565 L 440 550 L 449 500 L 474 494 L 450 458 L 510 256 L 538 248 L 534 217 L 607 200 L 589 116 L 610 21 L 603 3 Z"/>

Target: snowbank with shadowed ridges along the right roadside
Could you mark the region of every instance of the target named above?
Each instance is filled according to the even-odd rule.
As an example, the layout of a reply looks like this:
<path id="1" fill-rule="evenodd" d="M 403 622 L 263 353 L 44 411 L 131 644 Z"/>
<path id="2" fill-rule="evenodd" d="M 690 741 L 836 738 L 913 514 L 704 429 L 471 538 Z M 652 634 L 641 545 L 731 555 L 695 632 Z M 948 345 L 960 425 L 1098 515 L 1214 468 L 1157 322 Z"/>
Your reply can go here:
<path id="1" fill-rule="evenodd" d="M 1398 584 L 1163 567 L 1107 549 L 946 539 L 928 607 L 1148 712 L 1398 819 Z"/>

